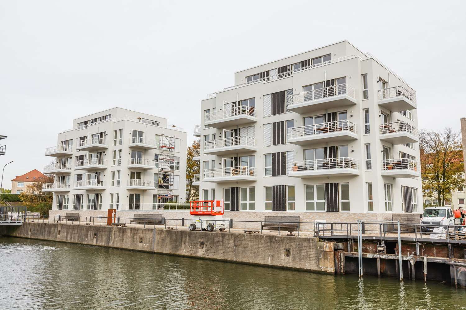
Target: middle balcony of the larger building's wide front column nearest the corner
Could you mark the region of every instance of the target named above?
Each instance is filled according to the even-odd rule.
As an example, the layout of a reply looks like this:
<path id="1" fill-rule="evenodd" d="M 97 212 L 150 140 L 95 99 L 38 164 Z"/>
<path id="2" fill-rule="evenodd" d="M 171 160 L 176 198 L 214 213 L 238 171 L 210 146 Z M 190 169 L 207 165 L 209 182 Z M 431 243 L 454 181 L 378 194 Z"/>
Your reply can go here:
<path id="1" fill-rule="evenodd" d="M 309 145 L 331 141 L 357 139 L 357 125 L 349 120 L 288 128 L 288 142 L 295 145 Z"/>

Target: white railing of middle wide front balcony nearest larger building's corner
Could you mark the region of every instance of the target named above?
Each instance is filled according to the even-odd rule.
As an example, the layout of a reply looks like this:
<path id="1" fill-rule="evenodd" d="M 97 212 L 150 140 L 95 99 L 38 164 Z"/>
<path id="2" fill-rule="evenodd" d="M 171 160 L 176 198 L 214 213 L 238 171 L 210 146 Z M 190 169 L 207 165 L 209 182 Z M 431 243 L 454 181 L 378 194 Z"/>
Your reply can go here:
<path id="1" fill-rule="evenodd" d="M 288 128 L 288 139 L 342 131 L 357 133 L 357 126 L 355 123 L 350 122 L 348 119 L 344 119 L 337 120 L 335 122 L 293 127 Z"/>

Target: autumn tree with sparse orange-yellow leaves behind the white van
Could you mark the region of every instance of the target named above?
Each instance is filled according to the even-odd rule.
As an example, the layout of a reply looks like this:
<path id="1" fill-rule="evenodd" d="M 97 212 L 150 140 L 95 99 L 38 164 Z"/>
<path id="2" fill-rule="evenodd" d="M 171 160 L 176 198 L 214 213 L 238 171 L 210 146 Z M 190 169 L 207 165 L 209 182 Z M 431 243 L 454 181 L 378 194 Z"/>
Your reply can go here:
<path id="1" fill-rule="evenodd" d="M 421 130 L 419 132 L 421 151 L 422 192 L 424 197 L 437 199 L 445 205 L 458 186 L 464 186 L 463 147 L 460 132 L 445 128 L 443 132 Z"/>

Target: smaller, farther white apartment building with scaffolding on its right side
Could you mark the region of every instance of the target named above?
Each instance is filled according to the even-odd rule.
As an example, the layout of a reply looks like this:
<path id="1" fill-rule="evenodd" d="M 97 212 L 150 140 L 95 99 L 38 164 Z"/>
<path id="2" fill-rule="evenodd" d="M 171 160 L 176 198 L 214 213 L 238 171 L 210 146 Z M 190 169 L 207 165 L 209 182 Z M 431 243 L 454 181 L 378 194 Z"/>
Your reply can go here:
<path id="1" fill-rule="evenodd" d="M 73 120 L 45 150 L 55 164 L 50 215 L 118 216 L 185 202 L 187 133 L 167 119 L 115 107 Z M 120 211 L 131 211 L 131 215 Z"/>

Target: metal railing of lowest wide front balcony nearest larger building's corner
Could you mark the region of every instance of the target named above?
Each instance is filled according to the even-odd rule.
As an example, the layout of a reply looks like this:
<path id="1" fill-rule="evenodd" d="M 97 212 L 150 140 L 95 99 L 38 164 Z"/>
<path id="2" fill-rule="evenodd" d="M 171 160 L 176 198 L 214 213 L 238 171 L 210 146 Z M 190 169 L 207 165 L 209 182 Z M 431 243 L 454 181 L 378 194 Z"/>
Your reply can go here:
<path id="1" fill-rule="evenodd" d="M 293 171 L 311 171 L 327 169 L 359 169 L 359 162 L 356 158 L 337 157 L 324 159 L 300 160 L 291 162 L 290 172 Z M 325 173 L 325 171 L 322 171 Z"/>

